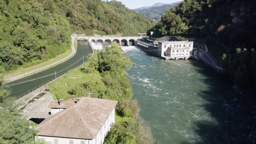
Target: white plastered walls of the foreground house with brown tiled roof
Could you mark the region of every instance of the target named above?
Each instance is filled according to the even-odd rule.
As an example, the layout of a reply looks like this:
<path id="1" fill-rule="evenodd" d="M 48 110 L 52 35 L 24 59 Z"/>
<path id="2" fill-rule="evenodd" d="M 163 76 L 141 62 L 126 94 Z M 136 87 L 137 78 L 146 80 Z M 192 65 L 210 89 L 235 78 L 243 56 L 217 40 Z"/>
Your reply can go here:
<path id="1" fill-rule="evenodd" d="M 51 112 L 59 112 L 60 109 L 51 109 Z M 63 109 L 62 109 L 63 110 Z M 115 108 L 112 110 L 105 123 L 103 124 L 101 130 L 98 132 L 95 139 L 74 139 L 74 138 L 59 138 L 59 137 L 50 137 L 50 136 L 38 136 L 38 139 L 43 138 L 46 142 L 52 142 L 52 144 L 103 144 L 104 138 L 107 132 L 115 123 Z M 55 141 L 54 141 L 55 140 Z M 73 142 L 70 142 L 70 140 Z M 58 141 L 58 143 L 56 142 Z M 84 143 L 83 143 L 84 142 Z"/>

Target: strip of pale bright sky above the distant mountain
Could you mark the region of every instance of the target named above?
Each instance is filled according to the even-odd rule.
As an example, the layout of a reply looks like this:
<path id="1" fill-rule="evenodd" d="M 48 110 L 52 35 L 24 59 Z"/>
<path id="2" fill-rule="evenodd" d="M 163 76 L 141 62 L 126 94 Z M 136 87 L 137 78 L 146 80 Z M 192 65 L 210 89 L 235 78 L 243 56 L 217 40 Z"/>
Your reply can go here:
<path id="1" fill-rule="evenodd" d="M 106 1 L 106 0 L 103 0 Z M 111 0 L 108 0 L 111 1 Z M 134 8 L 140 8 L 143 6 L 152 6 L 157 2 L 161 2 L 164 4 L 171 4 L 174 2 L 179 2 L 182 0 L 116 0 L 119 2 L 122 2 L 127 8 L 134 9 Z"/>

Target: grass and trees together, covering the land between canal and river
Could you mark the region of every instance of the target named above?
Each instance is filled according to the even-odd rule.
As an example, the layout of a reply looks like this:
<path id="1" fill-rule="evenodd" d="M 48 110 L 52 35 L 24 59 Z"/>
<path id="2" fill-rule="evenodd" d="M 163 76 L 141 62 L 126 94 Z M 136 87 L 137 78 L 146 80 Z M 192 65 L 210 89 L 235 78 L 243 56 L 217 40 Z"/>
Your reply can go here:
<path id="1" fill-rule="evenodd" d="M 150 126 L 138 116 L 138 102 L 132 99 L 132 85 L 126 77 L 130 66 L 132 62 L 118 45 L 104 46 L 91 54 L 84 66 L 48 86 L 58 100 L 70 99 L 70 95 L 86 96 L 87 92 L 94 98 L 118 100 L 116 124 L 108 132 L 106 144 L 152 144 Z"/>

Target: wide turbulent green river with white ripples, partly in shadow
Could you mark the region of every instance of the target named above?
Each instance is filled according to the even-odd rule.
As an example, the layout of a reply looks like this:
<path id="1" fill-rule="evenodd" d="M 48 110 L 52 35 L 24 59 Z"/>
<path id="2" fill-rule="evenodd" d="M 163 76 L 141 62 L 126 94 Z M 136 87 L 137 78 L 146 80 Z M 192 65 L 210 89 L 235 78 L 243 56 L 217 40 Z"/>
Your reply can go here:
<path id="1" fill-rule="evenodd" d="M 162 60 L 134 46 L 128 77 L 156 144 L 254 144 L 254 88 L 238 88 L 196 60 Z"/>

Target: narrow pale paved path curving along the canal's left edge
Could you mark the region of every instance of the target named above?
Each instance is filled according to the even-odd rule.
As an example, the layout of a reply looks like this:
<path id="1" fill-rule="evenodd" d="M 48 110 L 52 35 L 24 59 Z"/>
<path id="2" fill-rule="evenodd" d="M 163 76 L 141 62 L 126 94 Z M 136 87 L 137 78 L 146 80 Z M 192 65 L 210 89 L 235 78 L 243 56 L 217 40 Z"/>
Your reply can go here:
<path id="1" fill-rule="evenodd" d="M 76 38 L 76 37 L 75 37 L 75 36 L 72 36 L 71 38 L 72 38 L 72 45 L 71 45 L 72 52 L 71 52 L 71 54 L 68 55 L 66 58 L 63 58 L 62 60 L 59 60 L 59 61 L 57 61 L 57 62 L 54 62 L 54 63 L 52 63 L 52 64 L 49 64 L 49 65 L 47 65 L 47 66 L 44 66 L 44 67 L 42 67 L 42 68 L 38 68 L 38 69 L 36 69 L 36 70 L 32 70 L 32 71 L 30 71 L 30 72 L 27 72 L 26 74 L 21 74 L 21 75 L 19 75 L 19 76 L 15 76 L 15 77 L 12 77 L 12 78 L 8 78 L 8 79 L 6 79 L 5 81 L 6 81 L 6 82 L 11 82 L 11 81 L 13 81 L 13 80 L 17 80 L 17 79 L 19 79 L 19 78 L 23 78 L 23 77 L 25 77 L 25 76 L 27 76 L 27 75 L 29 75 L 29 74 L 38 72 L 38 71 L 40 71 L 40 70 L 44 70 L 44 69 L 49 68 L 49 67 L 51 67 L 51 66 L 54 66 L 54 65 L 56 65 L 56 64 L 58 64 L 58 63 L 60 63 L 60 62 L 64 62 L 64 61 L 67 60 L 68 58 L 74 56 L 74 54 L 76 54 L 76 48 L 75 48 L 75 38 Z"/>

